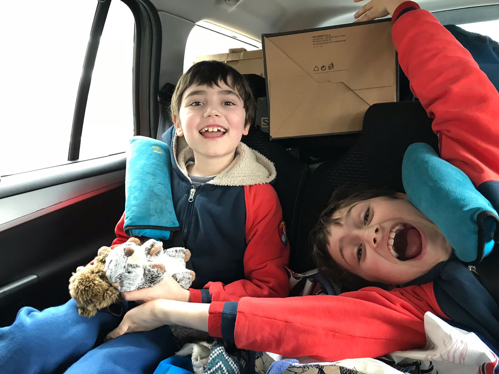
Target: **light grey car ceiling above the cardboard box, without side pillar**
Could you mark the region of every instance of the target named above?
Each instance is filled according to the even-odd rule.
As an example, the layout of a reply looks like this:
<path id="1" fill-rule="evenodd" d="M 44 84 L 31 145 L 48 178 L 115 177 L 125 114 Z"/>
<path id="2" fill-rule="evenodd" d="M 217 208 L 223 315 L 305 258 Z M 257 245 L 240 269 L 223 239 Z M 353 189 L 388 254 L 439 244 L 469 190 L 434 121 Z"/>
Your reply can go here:
<path id="1" fill-rule="evenodd" d="M 498 0 L 418 2 L 432 12 L 499 3 Z M 194 23 L 207 20 L 256 40 L 260 40 L 261 33 L 348 23 L 360 7 L 352 0 L 240 0 L 235 6 L 225 0 L 152 0 L 152 3 L 158 11 Z"/>

